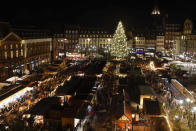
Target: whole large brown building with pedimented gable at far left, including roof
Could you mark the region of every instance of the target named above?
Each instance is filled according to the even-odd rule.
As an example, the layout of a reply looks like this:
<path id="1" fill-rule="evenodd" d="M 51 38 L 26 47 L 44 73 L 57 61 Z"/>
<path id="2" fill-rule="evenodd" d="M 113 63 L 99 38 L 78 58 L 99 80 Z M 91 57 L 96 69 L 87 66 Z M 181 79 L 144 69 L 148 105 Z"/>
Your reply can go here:
<path id="1" fill-rule="evenodd" d="M 6 35 L 0 41 L 0 81 L 30 73 L 51 61 L 52 38 L 47 31 L 21 27 L 10 30 L 2 31 Z"/>

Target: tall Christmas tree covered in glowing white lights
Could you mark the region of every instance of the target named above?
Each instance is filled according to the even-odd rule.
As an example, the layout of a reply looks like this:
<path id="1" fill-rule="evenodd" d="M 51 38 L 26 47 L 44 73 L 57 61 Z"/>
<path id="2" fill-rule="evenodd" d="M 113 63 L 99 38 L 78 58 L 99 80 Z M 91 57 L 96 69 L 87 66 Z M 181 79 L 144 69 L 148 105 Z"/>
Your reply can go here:
<path id="1" fill-rule="evenodd" d="M 118 23 L 112 39 L 110 54 L 117 59 L 124 59 L 128 55 L 127 38 L 121 21 Z"/>

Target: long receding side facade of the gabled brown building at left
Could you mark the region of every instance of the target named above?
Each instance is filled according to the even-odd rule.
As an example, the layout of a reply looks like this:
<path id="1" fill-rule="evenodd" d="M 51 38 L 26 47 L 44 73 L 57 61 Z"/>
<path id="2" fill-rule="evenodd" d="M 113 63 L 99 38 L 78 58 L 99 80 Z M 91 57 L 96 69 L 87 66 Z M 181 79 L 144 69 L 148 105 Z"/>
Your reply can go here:
<path id="1" fill-rule="evenodd" d="M 24 45 L 24 71 L 32 71 L 41 64 L 51 62 L 52 38 L 22 40 Z"/>

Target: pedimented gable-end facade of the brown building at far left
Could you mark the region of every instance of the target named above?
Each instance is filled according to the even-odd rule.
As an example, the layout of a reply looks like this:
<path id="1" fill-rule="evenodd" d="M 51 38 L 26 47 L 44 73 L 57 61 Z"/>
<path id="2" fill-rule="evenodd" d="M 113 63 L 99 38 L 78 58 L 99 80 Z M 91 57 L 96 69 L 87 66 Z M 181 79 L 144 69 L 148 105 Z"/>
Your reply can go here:
<path id="1" fill-rule="evenodd" d="M 0 81 L 22 73 L 24 67 L 24 45 L 22 39 L 11 32 L 0 41 Z"/>

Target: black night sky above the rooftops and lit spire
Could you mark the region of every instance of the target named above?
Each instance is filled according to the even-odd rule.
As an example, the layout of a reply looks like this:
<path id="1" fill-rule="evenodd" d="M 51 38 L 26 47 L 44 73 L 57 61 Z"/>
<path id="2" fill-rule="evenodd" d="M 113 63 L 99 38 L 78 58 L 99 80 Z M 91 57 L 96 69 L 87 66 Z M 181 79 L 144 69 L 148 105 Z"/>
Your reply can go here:
<path id="1" fill-rule="evenodd" d="M 41 0 L 40 0 L 41 1 Z M 150 17 L 154 0 L 26 0 L 21 3 L 9 1 L 0 8 L 0 18 L 7 18 L 14 24 L 50 25 L 79 24 L 82 26 L 113 27 L 117 21 L 135 25 Z M 194 2 L 190 0 L 157 0 L 161 13 L 169 14 L 169 18 L 196 18 Z M 10 6 L 9 6 L 10 7 Z"/>

